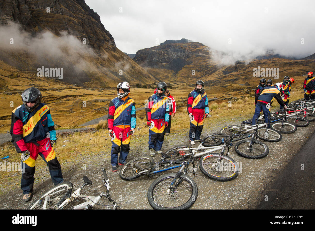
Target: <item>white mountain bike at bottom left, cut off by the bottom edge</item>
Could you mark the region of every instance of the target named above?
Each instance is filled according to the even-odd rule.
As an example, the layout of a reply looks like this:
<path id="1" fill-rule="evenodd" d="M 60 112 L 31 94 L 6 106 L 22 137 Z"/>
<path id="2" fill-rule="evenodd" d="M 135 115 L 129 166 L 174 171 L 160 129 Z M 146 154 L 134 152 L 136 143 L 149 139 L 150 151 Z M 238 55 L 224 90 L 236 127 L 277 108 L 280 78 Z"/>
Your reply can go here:
<path id="1" fill-rule="evenodd" d="M 72 209 L 92 209 L 95 205 L 107 206 L 110 209 L 120 209 L 117 206 L 117 203 L 111 199 L 111 195 L 109 192 L 109 179 L 107 177 L 105 168 L 101 169 L 104 175 L 103 183 L 106 187 L 106 192 L 102 192 L 98 196 L 88 196 L 88 195 L 80 195 L 80 191 L 89 184 L 92 184 L 92 181 L 87 178 L 87 176 L 83 177 L 84 184 L 78 188 L 75 192 L 73 191 L 73 185 L 71 182 L 63 182 L 56 185 L 51 190 L 44 193 L 38 201 L 36 201 L 30 209 L 64 209 L 67 205 L 69 205 L 74 199 L 81 198 L 86 200 L 82 204 L 72 207 Z M 106 199 L 103 203 L 98 204 L 102 196 L 105 196 Z M 103 205 L 107 201 L 107 204 Z"/>

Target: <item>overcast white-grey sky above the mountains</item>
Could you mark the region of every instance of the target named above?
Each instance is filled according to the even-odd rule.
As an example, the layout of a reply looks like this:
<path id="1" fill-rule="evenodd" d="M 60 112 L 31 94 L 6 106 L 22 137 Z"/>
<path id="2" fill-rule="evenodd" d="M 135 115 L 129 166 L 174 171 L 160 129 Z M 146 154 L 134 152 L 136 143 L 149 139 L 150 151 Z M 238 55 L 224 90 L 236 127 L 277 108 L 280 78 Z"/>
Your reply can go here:
<path id="1" fill-rule="evenodd" d="M 315 52 L 315 1 L 85 0 L 126 53 L 183 37 L 246 56 Z M 304 44 L 301 44 L 304 43 Z"/>

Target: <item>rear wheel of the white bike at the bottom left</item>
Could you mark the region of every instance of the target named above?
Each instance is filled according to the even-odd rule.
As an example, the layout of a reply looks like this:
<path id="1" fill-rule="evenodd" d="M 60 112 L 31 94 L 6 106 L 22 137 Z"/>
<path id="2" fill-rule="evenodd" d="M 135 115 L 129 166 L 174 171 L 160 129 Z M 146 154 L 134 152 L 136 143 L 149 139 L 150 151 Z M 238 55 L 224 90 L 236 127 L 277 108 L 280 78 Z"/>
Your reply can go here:
<path id="1" fill-rule="evenodd" d="M 44 193 L 30 209 L 57 209 L 67 198 L 71 197 L 73 185 L 63 182 Z"/>

